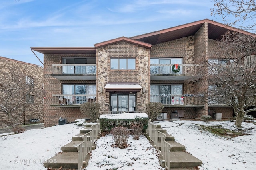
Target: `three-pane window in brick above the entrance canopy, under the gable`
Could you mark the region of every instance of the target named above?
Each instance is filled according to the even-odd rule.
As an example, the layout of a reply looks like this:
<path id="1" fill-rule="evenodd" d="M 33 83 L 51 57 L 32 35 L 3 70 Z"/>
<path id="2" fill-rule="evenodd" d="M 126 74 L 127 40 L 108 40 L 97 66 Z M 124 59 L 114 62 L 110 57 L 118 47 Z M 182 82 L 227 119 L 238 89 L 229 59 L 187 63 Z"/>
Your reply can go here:
<path id="1" fill-rule="evenodd" d="M 135 58 L 112 58 L 110 59 L 110 68 L 112 70 L 135 70 Z"/>

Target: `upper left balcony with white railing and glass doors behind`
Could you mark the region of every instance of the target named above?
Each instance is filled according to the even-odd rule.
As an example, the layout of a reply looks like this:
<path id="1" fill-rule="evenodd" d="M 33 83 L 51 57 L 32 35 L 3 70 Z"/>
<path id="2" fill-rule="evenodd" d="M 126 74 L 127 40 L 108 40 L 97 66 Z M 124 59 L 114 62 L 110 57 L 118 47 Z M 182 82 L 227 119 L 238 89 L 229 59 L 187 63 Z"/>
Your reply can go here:
<path id="1" fill-rule="evenodd" d="M 51 76 L 58 80 L 96 80 L 96 64 L 52 64 Z"/>

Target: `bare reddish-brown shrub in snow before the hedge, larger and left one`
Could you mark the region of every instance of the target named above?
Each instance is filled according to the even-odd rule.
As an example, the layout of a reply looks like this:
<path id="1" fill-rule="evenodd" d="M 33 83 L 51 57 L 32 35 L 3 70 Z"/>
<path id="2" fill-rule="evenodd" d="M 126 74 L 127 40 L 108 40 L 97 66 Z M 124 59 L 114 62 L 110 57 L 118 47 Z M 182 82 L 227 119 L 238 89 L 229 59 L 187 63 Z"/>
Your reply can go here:
<path id="1" fill-rule="evenodd" d="M 128 139 L 130 131 L 127 127 L 118 126 L 111 129 L 110 133 L 113 135 L 113 140 L 115 141 L 115 146 L 124 149 L 129 146 Z"/>

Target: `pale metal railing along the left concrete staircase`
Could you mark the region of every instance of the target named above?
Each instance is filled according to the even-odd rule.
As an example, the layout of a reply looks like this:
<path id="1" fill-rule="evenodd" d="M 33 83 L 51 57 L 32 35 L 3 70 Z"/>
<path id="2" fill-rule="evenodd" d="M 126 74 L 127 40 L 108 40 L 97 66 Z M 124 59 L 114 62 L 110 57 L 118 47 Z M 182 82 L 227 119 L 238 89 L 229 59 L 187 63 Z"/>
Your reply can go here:
<path id="1" fill-rule="evenodd" d="M 78 150 L 78 170 L 83 169 L 83 162 L 88 153 L 91 152 L 94 142 L 98 139 L 100 133 L 100 123 L 92 125 L 92 131 L 82 136 L 83 141 L 77 146 Z"/>

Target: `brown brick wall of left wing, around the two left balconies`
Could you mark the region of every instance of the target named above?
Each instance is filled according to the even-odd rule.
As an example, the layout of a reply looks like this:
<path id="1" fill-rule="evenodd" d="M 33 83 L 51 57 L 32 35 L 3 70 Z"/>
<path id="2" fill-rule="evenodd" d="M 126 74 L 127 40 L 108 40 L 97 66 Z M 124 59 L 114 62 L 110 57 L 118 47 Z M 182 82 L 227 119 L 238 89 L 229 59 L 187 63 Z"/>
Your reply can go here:
<path id="1" fill-rule="evenodd" d="M 96 80 L 60 81 L 51 76 L 52 64 L 61 64 L 62 57 L 96 57 L 95 54 L 45 54 L 44 55 L 44 127 L 58 124 L 60 117 L 67 119 L 68 123 L 83 118 L 80 108 L 50 106 L 56 102 L 52 94 L 62 94 L 62 84 L 96 84 Z"/>

